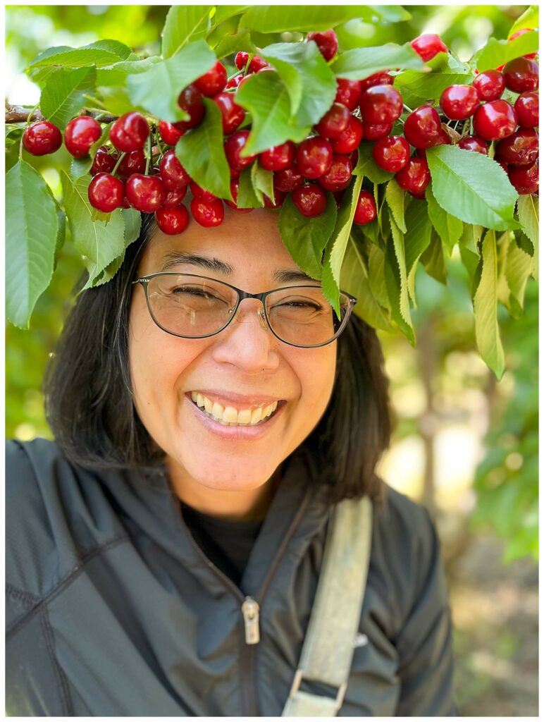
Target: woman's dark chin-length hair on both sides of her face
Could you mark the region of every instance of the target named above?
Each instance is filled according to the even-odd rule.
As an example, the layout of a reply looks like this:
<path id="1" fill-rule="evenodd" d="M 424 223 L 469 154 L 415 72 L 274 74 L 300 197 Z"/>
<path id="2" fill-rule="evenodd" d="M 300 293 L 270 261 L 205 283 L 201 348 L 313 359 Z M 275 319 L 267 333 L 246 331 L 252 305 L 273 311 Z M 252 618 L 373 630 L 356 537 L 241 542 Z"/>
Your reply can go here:
<path id="1" fill-rule="evenodd" d="M 88 289 L 69 313 L 44 381 L 45 414 L 56 442 L 86 469 L 153 471 L 164 464 L 133 404 L 128 365 L 131 282 L 154 217 L 143 215 L 110 282 Z M 80 279 L 83 287 L 86 274 Z M 323 417 L 301 444 L 319 469 L 325 501 L 379 500 L 375 466 L 390 442 L 388 382 L 376 332 L 352 314 L 338 338 L 336 377 Z"/>

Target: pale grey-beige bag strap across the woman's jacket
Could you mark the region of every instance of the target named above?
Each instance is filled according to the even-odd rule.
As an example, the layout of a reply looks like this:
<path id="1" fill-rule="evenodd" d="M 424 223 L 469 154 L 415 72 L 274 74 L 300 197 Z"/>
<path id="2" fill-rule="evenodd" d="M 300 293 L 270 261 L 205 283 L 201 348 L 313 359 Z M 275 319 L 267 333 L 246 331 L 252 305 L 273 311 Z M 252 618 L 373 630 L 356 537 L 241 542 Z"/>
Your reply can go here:
<path id="1" fill-rule="evenodd" d="M 336 505 L 299 668 L 282 717 L 335 717 L 346 693 L 372 541 L 368 497 Z M 302 679 L 338 688 L 336 698 L 299 689 Z"/>

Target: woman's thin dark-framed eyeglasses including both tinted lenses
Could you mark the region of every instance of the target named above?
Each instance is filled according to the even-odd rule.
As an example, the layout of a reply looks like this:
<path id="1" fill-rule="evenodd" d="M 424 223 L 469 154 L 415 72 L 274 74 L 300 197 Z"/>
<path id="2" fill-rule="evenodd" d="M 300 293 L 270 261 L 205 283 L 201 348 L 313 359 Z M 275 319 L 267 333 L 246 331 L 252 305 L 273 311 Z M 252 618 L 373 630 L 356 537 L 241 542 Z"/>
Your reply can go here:
<path id="1" fill-rule="evenodd" d="M 300 348 L 326 346 L 346 328 L 356 304 L 353 296 L 340 292 L 340 318 L 320 286 L 288 286 L 263 293 L 249 293 L 206 276 L 154 273 L 142 276 L 147 308 L 159 329 L 183 339 L 215 336 L 237 317 L 245 298 L 263 304 L 258 317 L 277 339 Z"/>

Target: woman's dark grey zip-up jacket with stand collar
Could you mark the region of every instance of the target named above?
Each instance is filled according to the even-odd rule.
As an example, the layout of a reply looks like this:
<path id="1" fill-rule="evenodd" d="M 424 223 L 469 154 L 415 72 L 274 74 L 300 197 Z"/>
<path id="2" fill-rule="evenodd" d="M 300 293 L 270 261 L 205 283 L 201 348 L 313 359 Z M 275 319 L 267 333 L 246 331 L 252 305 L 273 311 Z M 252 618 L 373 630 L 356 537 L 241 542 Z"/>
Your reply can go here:
<path id="1" fill-rule="evenodd" d="M 294 452 L 237 588 L 190 535 L 166 476 L 84 471 L 54 443 L 9 441 L 7 713 L 281 716 L 330 517 L 312 474 Z M 386 490 L 339 716 L 454 715 L 439 541 L 424 508 Z M 246 596 L 260 604 L 256 645 Z"/>

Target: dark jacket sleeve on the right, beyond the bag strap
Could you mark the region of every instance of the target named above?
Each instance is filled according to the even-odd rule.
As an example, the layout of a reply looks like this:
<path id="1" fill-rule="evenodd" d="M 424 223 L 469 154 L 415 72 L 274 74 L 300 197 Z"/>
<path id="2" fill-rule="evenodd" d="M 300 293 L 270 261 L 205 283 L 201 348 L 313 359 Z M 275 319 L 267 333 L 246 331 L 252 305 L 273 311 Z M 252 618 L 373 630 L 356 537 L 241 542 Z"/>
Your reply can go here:
<path id="1" fill-rule="evenodd" d="M 415 545 L 420 571 L 411 609 L 395 640 L 399 655 L 397 716 L 456 716 L 452 621 L 440 542 L 429 513 Z"/>

